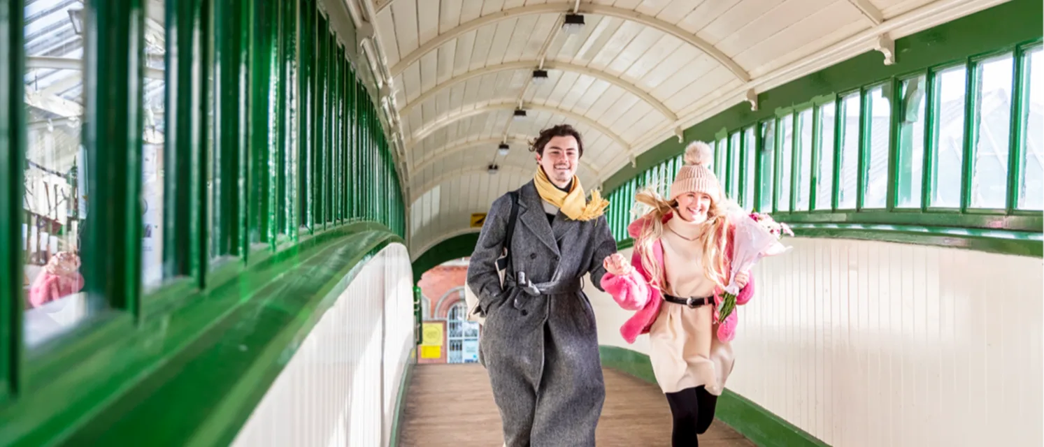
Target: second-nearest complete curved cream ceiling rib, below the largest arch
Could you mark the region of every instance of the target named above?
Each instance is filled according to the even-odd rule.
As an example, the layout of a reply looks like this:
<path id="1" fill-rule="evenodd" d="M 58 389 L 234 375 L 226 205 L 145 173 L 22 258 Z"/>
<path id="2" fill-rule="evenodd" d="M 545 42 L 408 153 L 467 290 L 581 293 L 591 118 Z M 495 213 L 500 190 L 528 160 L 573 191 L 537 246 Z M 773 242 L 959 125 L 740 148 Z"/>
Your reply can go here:
<path id="1" fill-rule="evenodd" d="M 400 109 L 400 114 L 402 114 L 402 115 L 409 114 L 410 109 L 412 109 L 413 107 L 416 107 L 416 106 L 418 106 L 420 104 L 423 104 L 424 101 L 427 101 L 427 100 L 431 99 L 431 97 L 437 95 L 438 92 L 441 92 L 441 91 L 443 91 L 445 89 L 449 89 L 449 88 L 451 88 L 453 85 L 456 85 L 458 83 L 465 82 L 465 81 L 467 81 L 469 79 L 474 79 L 474 78 L 479 77 L 479 76 L 484 76 L 484 75 L 488 75 L 488 74 L 491 74 L 491 73 L 498 73 L 498 72 L 503 72 L 503 71 L 513 71 L 513 70 L 522 70 L 522 69 L 535 70 L 535 69 L 537 69 L 537 67 L 540 67 L 540 60 L 520 60 L 520 61 L 517 61 L 517 63 L 507 63 L 507 64 L 501 64 L 501 65 L 497 65 L 497 66 L 490 66 L 490 67 L 485 67 L 485 68 L 482 68 L 482 69 L 479 69 L 479 70 L 474 70 L 474 71 L 467 72 L 465 74 L 461 74 L 460 76 L 452 77 L 452 78 L 446 80 L 445 82 L 440 83 L 438 85 L 435 85 L 435 86 L 431 88 L 427 92 L 424 92 L 423 94 L 421 94 L 421 96 L 417 97 L 417 99 L 414 99 L 414 100 L 406 103 L 406 105 L 403 105 L 402 108 Z M 647 102 L 649 105 L 656 107 L 657 110 L 660 110 L 660 113 L 663 114 L 664 117 L 666 117 L 668 120 L 670 120 L 670 121 L 678 121 L 678 114 L 675 114 L 673 110 L 671 110 L 670 107 L 667 107 L 667 105 L 664 104 L 663 101 L 660 101 L 659 99 L 656 99 L 656 97 L 654 97 L 652 95 L 650 95 L 648 92 L 646 92 L 644 90 L 641 90 L 640 88 L 638 88 L 638 85 L 635 85 L 635 84 L 633 84 L 631 82 L 627 82 L 627 81 L 623 80 L 622 78 L 620 78 L 618 76 L 613 76 L 613 75 L 611 75 L 609 73 L 606 73 L 603 71 L 594 70 L 594 69 L 591 69 L 591 68 L 588 68 L 588 67 L 584 67 L 584 66 L 578 66 L 578 65 L 575 65 L 575 64 L 556 63 L 556 61 L 552 61 L 552 60 L 544 63 L 544 70 L 562 70 L 562 71 L 567 71 L 567 72 L 580 73 L 580 74 L 585 74 L 585 75 L 588 75 L 588 76 L 591 76 L 591 77 L 594 77 L 594 78 L 601 79 L 601 80 L 603 80 L 606 82 L 609 82 L 609 83 L 611 83 L 613 85 L 616 85 L 616 86 L 618 86 L 620 89 L 623 89 L 623 90 L 625 90 L 627 92 L 631 92 L 635 96 L 641 98 L 643 101 Z"/>

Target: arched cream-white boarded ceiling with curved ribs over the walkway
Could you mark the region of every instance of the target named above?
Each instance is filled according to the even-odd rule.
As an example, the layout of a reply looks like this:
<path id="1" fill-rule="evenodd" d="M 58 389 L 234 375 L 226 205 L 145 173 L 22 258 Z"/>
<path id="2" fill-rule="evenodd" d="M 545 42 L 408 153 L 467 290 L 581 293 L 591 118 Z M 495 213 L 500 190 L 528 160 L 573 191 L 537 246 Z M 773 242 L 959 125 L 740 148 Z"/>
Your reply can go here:
<path id="1" fill-rule="evenodd" d="M 584 133 L 590 190 L 680 129 L 757 106 L 760 92 L 867 51 L 894 55 L 895 39 L 1004 0 L 345 1 L 374 27 L 411 199 L 442 192 L 411 234 L 416 251 L 470 230 L 460 215 L 531 178 L 523 142 L 542 127 Z M 574 11 L 585 25 L 565 33 Z"/>

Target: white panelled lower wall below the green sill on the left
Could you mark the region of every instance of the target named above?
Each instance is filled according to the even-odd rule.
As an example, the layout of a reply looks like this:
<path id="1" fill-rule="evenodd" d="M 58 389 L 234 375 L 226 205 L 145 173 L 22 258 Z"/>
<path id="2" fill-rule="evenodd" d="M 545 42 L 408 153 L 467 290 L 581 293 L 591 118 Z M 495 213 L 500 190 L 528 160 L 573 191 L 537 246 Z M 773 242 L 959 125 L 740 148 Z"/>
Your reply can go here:
<path id="1" fill-rule="evenodd" d="M 387 446 L 413 344 L 412 280 L 402 245 L 388 246 L 362 266 L 233 445 Z"/>

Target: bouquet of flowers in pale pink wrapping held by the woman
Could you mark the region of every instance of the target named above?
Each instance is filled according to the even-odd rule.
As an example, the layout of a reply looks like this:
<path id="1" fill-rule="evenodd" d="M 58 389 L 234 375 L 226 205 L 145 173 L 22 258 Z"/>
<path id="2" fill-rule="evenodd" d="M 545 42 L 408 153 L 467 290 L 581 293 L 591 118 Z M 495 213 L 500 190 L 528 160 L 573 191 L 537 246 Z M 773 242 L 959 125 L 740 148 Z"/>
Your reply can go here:
<path id="1" fill-rule="evenodd" d="M 787 252 L 790 247 L 784 247 L 780 239 L 784 233 L 793 235 L 790 227 L 785 223 L 776 222 L 772 216 L 764 213 L 752 213 L 735 220 L 736 232 L 732 244 L 732 274 L 729 285 L 725 288 L 721 296 L 721 306 L 718 307 L 718 321 L 725 321 L 726 317 L 736 308 L 736 295 L 739 294 L 739 285 L 736 285 L 736 274 L 750 271 L 762 257 L 775 256 Z"/>

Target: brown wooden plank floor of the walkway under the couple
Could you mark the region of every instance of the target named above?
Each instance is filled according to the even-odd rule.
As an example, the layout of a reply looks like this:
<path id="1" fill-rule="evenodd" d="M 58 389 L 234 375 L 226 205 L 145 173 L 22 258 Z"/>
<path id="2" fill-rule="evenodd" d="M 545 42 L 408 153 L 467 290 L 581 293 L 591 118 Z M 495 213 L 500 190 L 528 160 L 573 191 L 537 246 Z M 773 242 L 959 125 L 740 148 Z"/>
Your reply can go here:
<path id="1" fill-rule="evenodd" d="M 607 369 L 606 405 L 598 446 L 670 446 L 670 408 L 655 384 Z M 496 447 L 503 444 L 500 414 L 480 365 L 417 365 L 406 395 L 403 447 Z M 718 421 L 701 447 L 754 446 Z M 533 446 L 542 447 L 542 446 Z"/>

